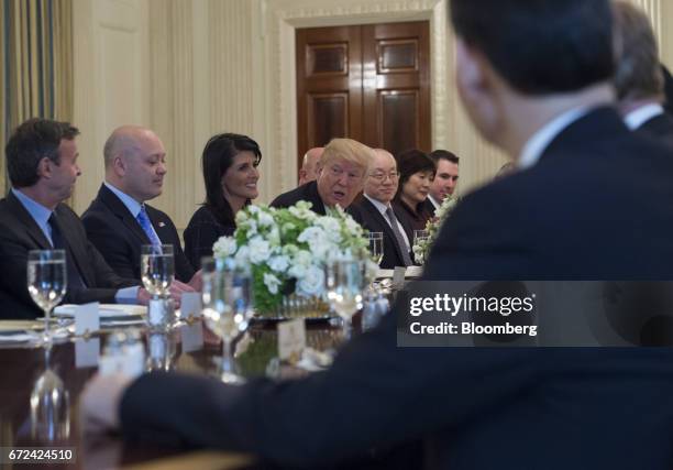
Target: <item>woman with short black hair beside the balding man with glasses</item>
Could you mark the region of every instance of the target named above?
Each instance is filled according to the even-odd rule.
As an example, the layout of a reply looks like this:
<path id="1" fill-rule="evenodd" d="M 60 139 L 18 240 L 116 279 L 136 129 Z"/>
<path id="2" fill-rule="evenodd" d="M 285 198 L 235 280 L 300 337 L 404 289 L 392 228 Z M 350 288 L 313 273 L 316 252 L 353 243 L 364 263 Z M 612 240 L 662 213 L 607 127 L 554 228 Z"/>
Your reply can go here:
<path id="1" fill-rule="evenodd" d="M 432 210 L 426 199 L 434 179 L 437 167 L 428 154 L 420 150 L 408 150 L 398 154 L 397 170 L 399 186 L 393 200 L 395 211 L 405 217 L 412 230 L 424 230 L 426 223 L 432 218 Z M 413 240 L 413 232 L 407 233 Z"/>

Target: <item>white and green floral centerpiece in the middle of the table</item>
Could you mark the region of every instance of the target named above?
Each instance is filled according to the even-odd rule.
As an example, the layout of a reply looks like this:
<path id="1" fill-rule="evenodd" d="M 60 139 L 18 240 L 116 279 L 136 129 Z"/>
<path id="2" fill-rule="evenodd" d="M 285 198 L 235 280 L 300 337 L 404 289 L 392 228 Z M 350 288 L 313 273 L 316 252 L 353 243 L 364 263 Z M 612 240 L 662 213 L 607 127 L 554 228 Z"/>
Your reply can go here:
<path id="1" fill-rule="evenodd" d="M 350 215 L 336 207 L 320 216 L 307 201 L 283 209 L 245 207 L 236 214 L 233 237 L 221 237 L 213 255 L 251 267 L 255 310 L 262 316 L 290 294 L 321 297 L 324 265 L 333 256 L 368 260 L 364 230 Z"/>

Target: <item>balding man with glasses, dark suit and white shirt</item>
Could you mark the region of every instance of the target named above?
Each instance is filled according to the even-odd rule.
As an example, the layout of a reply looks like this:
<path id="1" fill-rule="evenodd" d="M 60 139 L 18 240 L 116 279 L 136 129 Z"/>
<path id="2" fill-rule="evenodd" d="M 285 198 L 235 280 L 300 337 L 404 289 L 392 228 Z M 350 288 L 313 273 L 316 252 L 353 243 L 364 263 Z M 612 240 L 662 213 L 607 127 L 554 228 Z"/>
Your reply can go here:
<path id="1" fill-rule="evenodd" d="M 407 219 L 398 217 L 390 205 L 397 193 L 398 182 L 395 157 L 383 149 L 374 149 L 374 159 L 365 177 L 364 194 L 347 209 L 363 228 L 383 233 L 383 260 L 379 266 L 386 270 L 413 264 L 407 236 L 412 229 L 404 226 L 408 223 Z"/>

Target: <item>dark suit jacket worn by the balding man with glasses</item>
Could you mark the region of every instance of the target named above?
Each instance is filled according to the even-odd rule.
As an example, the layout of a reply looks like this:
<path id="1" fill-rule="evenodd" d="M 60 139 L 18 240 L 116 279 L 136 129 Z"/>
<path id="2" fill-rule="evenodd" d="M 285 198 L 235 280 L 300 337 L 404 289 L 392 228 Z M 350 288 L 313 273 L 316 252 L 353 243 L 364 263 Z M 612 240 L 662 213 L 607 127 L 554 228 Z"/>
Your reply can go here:
<path id="1" fill-rule="evenodd" d="M 384 270 L 391 270 L 395 266 L 405 265 L 401 250 L 406 250 L 406 247 L 400 247 L 397 243 L 397 239 L 395 238 L 395 233 L 393 233 L 390 225 L 386 221 L 384 216 L 380 215 L 378 209 L 369 201 L 369 199 L 362 196 L 357 203 L 349 206 L 346 212 L 353 216 L 353 219 L 355 219 L 363 228 L 369 230 L 371 232 L 383 232 L 384 256 L 379 264 L 380 267 Z M 405 219 L 399 217 L 397 214 L 396 217 L 402 226 L 402 230 L 406 232 L 409 231 L 410 227 L 405 227 Z M 410 239 L 409 243 L 412 241 L 413 240 Z M 413 260 L 411 253 L 409 253 L 409 258 Z"/>

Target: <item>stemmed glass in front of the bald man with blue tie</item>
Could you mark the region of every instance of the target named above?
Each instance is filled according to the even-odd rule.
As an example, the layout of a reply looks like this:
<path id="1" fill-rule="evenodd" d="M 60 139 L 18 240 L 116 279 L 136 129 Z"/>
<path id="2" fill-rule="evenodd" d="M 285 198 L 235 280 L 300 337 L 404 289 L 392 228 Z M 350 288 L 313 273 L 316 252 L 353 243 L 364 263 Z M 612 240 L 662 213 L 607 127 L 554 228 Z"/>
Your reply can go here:
<path id="1" fill-rule="evenodd" d="M 151 328 L 166 329 L 173 321 L 167 306 L 170 284 L 175 276 L 172 244 L 143 244 L 141 247 L 141 278 L 152 300 L 147 309 Z"/>

